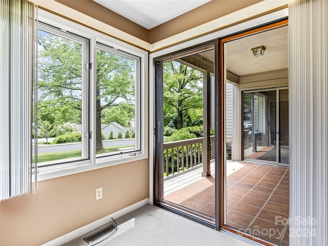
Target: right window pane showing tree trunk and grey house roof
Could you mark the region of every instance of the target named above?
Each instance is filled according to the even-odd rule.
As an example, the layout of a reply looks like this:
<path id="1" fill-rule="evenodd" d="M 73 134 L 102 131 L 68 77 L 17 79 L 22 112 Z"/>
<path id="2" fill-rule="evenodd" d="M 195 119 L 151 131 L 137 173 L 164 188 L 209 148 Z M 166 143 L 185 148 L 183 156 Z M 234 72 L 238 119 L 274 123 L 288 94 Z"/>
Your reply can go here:
<path id="1" fill-rule="evenodd" d="M 136 60 L 99 46 L 96 65 L 97 157 L 135 151 L 135 139 L 138 139 Z"/>

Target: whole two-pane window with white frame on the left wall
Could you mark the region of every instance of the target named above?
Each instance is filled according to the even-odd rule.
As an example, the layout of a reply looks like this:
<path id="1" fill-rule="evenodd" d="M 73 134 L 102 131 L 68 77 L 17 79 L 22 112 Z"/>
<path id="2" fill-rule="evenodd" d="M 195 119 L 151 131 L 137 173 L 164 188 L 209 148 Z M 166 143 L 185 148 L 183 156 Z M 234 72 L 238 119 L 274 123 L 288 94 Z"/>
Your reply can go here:
<path id="1" fill-rule="evenodd" d="M 146 158 L 148 52 L 43 10 L 37 30 L 39 180 Z"/>

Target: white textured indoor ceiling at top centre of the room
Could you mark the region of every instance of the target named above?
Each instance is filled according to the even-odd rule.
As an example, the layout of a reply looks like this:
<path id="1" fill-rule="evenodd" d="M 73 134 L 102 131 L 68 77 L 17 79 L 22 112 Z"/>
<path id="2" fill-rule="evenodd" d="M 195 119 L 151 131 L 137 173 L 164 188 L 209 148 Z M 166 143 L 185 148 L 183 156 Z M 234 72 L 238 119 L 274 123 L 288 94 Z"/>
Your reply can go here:
<path id="1" fill-rule="evenodd" d="M 151 29 L 212 0 L 93 0 Z"/>

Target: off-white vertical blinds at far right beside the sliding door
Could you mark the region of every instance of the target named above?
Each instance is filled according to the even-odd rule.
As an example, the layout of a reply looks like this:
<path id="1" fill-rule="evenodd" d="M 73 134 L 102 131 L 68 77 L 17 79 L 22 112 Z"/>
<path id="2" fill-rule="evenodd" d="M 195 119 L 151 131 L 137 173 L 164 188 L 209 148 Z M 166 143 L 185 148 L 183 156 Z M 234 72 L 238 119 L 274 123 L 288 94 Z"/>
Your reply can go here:
<path id="1" fill-rule="evenodd" d="M 328 245 L 327 15 L 327 0 L 289 6 L 291 246 Z"/>

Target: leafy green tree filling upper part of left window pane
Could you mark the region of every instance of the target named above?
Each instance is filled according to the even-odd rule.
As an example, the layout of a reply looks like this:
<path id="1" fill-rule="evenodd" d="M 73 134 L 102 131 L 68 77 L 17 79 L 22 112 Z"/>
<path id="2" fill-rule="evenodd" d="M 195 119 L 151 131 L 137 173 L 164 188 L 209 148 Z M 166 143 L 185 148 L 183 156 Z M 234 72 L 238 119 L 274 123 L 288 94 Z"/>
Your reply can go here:
<path id="1" fill-rule="evenodd" d="M 38 44 L 38 111 L 50 108 L 59 123 L 75 122 L 81 115 L 82 45 L 40 30 Z"/>

